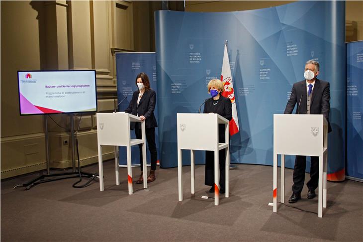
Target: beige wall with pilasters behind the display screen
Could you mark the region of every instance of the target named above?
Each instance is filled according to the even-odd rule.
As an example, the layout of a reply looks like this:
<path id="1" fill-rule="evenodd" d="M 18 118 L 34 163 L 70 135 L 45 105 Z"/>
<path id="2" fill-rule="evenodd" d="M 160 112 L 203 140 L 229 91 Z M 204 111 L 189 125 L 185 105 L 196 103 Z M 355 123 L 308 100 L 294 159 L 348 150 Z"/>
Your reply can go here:
<path id="1" fill-rule="evenodd" d="M 44 116 L 19 116 L 17 70 L 95 69 L 98 111 L 111 112 L 117 100 L 114 53 L 135 49 L 134 11 L 130 1 L 1 1 L 0 4 L 3 179 L 46 168 Z M 71 167 L 70 115 L 51 117 L 68 130 L 47 119 L 50 166 Z M 74 117 L 76 127 L 79 120 L 79 116 Z M 78 136 L 81 165 L 96 162 L 95 114 L 82 117 Z M 106 146 L 103 150 L 103 159 L 113 158 L 113 147 Z"/>

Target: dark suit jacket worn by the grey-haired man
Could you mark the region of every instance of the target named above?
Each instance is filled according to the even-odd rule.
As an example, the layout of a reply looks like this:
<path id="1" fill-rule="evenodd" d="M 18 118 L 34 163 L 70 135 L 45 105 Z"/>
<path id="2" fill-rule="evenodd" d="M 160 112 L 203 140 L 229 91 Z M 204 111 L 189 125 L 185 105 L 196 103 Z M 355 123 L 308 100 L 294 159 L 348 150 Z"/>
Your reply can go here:
<path id="1" fill-rule="evenodd" d="M 328 132 L 332 131 L 329 122 L 330 112 L 330 85 L 319 79 L 315 80 L 313 92 L 311 94 L 310 114 L 322 114 L 328 121 Z M 301 103 L 299 106 L 299 102 Z M 296 114 L 306 114 L 307 91 L 306 80 L 294 83 L 291 90 L 291 96 L 287 102 L 284 114 L 291 114 L 295 104 L 297 105 Z"/>

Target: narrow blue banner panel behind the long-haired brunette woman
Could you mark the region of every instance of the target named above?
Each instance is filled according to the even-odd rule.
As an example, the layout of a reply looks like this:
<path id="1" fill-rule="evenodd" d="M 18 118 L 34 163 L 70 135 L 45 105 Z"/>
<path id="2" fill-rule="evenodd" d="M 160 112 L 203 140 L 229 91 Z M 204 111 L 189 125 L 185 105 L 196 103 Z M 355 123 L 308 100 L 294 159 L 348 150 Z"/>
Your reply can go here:
<path id="1" fill-rule="evenodd" d="M 150 81 L 150 86 L 157 92 L 155 53 L 116 53 L 116 75 L 117 75 L 117 99 L 120 102 L 123 97 L 127 99 L 118 106 L 118 111 L 123 112 L 132 99 L 132 94 L 137 90 L 136 76 L 145 72 Z M 154 115 L 158 121 L 158 109 L 155 108 Z M 131 138 L 136 138 L 135 132 L 131 130 Z M 156 146 L 159 152 L 158 128 L 155 129 Z M 147 146 L 148 147 L 148 146 Z M 147 164 L 150 164 L 150 152 L 148 148 Z M 159 155 L 158 155 L 159 157 Z M 131 147 L 131 159 L 133 165 L 140 165 L 139 147 Z M 127 165 L 126 148 L 120 147 L 120 165 Z"/>

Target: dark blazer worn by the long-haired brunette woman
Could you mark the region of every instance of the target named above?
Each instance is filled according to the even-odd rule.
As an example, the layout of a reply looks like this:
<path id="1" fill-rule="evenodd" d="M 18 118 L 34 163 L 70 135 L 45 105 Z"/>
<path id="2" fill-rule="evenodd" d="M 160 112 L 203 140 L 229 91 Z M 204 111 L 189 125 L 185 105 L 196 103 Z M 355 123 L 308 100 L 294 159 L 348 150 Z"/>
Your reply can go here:
<path id="1" fill-rule="evenodd" d="M 157 127 L 158 123 L 156 122 L 155 116 L 154 116 L 154 110 L 156 105 L 156 93 L 154 90 L 149 89 L 148 91 L 145 91 L 144 95 L 142 95 L 139 105 L 137 105 L 137 99 L 139 98 L 140 91 L 137 90 L 132 95 L 131 102 L 129 103 L 129 106 L 125 110 L 125 113 L 132 114 L 135 116 L 144 116 L 146 118 L 145 120 L 145 127 L 146 128 L 153 128 Z M 131 129 L 133 129 L 135 126 L 135 123 L 133 122 L 131 124 Z"/>

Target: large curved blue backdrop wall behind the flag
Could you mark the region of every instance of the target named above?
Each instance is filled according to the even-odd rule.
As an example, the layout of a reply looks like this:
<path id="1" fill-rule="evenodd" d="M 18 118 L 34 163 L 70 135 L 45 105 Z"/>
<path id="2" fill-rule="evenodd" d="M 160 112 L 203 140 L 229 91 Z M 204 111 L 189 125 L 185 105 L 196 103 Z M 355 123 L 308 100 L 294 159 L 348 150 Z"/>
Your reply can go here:
<path id="1" fill-rule="evenodd" d="M 321 65 L 319 78 L 331 84 L 328 170 L 344 169 L 344 16 L 341 1 L 234 12 L 157 11 L 162 167 L 177 166 L 177 113 L 196 113 L 210 97 L 206 84 L 220 78 L 228 40 L 240 126 L 231 138 L 231 161 L 272 165 L 273 114 L 283 113 L 292 84 L 303 80 L 305 62 L 314 59 Z M 183 164 L 189 164 L 186 154 Z M 196 162 L 204 163 L 202 154 Z M 286 158 L 287 167 L 293 167 L 293 158 Z"/>

